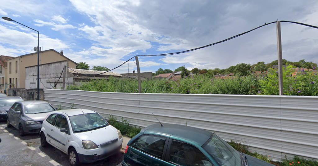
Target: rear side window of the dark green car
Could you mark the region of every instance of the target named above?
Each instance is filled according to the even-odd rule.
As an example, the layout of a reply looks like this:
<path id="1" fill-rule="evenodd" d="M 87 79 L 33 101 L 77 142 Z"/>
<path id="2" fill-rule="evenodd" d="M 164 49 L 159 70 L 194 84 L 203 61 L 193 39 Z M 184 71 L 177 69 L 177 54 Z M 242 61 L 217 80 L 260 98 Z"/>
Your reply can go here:
<path id="1" fill-rule="evenodd" d="M 165 142 L 165 137 L 156 135 L 142 135 L 137 138 L 135 142 L 131 144 L 131 146 L 151 156 L 161 159 Z"/>

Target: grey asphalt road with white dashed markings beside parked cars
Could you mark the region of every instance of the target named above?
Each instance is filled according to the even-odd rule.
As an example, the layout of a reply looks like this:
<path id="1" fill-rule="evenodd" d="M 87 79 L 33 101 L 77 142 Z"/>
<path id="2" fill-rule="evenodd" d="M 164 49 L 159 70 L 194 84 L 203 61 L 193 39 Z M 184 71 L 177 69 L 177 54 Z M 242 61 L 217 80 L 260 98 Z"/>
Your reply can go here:
<path id="1" fill-rule="evenodd" d="M 49 146 L 43 148 L 40 135 L 32 134 L 20 137 L 17 129 L 7 128 L 0 122 L 0 165 L 5 166 L 68 166 L 68 156 L 58 149 Z M 119 152 L 105 160 L 83 166 L 121 166 L 123 154 Z"/>

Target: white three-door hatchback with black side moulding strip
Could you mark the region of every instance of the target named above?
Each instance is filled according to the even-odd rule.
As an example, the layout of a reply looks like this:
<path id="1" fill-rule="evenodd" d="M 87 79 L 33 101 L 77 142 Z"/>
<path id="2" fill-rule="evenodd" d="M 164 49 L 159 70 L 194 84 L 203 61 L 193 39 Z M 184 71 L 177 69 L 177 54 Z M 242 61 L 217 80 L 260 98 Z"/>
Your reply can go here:
<path id="1" fill-rule="evenodd" d="M 41 145 L 68 154 L 72 166 L 93 163 L 121 149 L 121 132 L 100 114 L 87 109 L 54 111 L 43 121 Z"/>

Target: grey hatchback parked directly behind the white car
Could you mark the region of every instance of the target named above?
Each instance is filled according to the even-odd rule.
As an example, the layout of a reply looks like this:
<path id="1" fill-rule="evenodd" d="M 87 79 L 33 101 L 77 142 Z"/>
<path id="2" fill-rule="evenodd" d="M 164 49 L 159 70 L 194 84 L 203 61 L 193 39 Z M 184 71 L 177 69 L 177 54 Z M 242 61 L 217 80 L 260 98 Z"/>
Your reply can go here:
<path id="1" fill-rule="evenodd" d="M 15 102 L 8 111 L 7 127 L 15 127 L 19 135 L 39 133 L 42 123 L 55 108 L 46 101 Z"/>

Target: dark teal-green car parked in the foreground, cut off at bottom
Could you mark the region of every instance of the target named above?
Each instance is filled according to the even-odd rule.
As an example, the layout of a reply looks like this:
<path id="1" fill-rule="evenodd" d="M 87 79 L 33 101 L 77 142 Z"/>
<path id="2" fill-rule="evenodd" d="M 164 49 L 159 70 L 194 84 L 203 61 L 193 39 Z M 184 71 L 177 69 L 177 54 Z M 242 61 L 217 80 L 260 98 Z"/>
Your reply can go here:
<path id="1" fill-rule="evenodd" d="M 232 148 L 217 135 L 177 124 L 143 128 L 126 147 L 122 166 L 273 166 Z"/>

